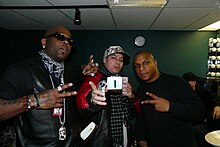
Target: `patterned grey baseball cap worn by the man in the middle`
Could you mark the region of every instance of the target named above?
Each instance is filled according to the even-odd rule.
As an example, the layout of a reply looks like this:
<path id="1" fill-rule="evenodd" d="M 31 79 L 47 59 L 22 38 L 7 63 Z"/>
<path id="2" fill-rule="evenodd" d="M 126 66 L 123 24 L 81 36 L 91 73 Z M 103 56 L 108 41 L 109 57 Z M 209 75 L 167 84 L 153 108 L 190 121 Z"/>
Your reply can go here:
<path id="1" fill-rule="evenodd" d="M 130 55 L 126 53 L 120 46 L 110 46 L 108 49 L 105 50 L 103 58 L 106 58 L 116 53 L 122 54 L 124 56 L 124 64 L 129 63 Z"/>

